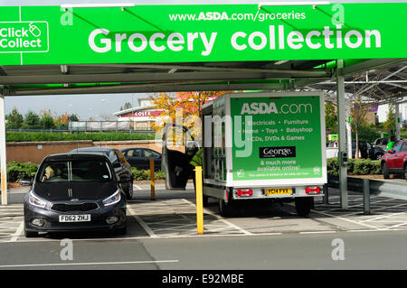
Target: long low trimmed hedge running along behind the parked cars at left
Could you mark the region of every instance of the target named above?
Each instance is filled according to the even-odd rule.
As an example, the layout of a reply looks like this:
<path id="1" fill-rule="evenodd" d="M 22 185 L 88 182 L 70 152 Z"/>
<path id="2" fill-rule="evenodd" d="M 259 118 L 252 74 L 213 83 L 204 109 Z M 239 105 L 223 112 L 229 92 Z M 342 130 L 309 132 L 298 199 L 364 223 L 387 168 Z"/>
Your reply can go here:
<path id="1" fill-rule="evenodd" d="M 127 141 L 127 140 L 154 140 L 154 134 L 104 132 L 104 133 L 68 133 L 68 132 L 24 132 L 6 131 L 6 142 L 39 142 L 39 141 Z"/>

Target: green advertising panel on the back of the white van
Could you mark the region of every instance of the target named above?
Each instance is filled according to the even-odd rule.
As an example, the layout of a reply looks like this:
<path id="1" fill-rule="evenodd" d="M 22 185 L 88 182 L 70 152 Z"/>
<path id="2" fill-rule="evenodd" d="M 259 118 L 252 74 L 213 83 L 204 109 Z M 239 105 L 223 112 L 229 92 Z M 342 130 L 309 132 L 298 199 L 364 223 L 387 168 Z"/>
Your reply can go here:
<path id="1" fill-rule="evenodd" d="M 322 177 L 318 96 L 231 98 L 231 114 L 233 181 Z"/>

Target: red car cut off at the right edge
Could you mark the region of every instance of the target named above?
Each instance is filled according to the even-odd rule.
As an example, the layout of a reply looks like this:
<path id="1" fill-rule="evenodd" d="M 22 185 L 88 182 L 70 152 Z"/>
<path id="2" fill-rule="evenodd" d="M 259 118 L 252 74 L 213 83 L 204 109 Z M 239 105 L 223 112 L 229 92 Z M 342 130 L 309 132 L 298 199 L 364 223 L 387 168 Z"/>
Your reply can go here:
<path id="1" fill-rule="evenodd" d="M 404 174 L 407 180 L 407 140 L 394 144 L 393 149 L 382 157 L 383 178 L 389 179 L 390 174 Z"/>

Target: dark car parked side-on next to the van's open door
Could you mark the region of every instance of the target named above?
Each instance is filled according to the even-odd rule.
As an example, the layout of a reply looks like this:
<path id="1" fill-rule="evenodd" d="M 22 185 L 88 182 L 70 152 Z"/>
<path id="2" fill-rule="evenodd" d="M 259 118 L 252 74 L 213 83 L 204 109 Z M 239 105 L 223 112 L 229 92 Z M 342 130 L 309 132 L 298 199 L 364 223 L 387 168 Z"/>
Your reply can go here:
<path id="1" fill-rule="evenodd" d="M 131 147 L 121 148 L 120 151 L 126 157 L 131 167 L 136 167 L 137 170 L 150 169 L 150 158 L 154 158 L 154 170 L 161 169 L 161 153 L 158 153 L 149 148 Z"/>

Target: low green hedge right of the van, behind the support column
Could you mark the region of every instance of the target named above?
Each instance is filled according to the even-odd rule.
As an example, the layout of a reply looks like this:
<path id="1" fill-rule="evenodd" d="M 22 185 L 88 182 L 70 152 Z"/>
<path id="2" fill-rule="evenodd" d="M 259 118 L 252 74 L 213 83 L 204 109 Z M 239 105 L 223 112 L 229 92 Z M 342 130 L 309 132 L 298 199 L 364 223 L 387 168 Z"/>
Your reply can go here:
<path id="1" fill-rule="evenodd" d="M 380 161 L 370 159 L 348 159 L 347 173 L 350 175 L 375 175 L 382 174 Z M 339 166 L 337 158 L 327 159 L 327 174 L 329 176 L 339 176 Z"/>

